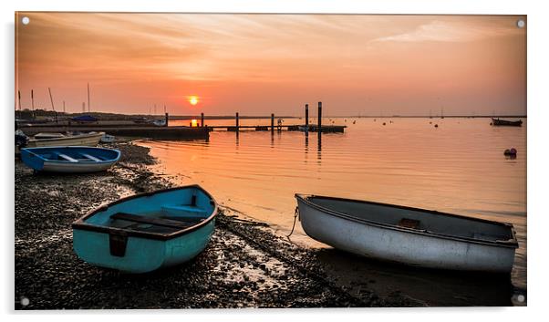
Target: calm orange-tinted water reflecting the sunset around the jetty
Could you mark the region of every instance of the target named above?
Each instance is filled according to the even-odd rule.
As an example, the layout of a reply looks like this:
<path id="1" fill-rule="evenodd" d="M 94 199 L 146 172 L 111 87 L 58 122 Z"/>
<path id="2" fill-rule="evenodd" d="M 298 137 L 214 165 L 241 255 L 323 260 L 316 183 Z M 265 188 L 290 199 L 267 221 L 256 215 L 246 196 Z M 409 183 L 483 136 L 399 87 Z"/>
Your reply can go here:
<path id="1" fill-rule="evenodd" d="M 356 120 L 356 124 L 353 124 Z M 392 121 L 392 123 L 391 123 Z M 143 141 L 157 171 L 199 183 L 218 203 L 292 228 L 295 192 L 333 195 L 459 213 L 513 223 L 520 248 L 513 284 L 526 286 L 526 122 L 492 127 L 490 119 L 323 119 L 343 134 L 214 131 L 209 141 Z M 295 124 L 303 119 L 285 119 Z M 316 122 L 315 119 L 312 122 Z M 383 126 L 382 123 L 387 125 Z M 430 124 L 432 122 L 432 124 Z M 206 124 L 233 125 L 233 119 Z M 270 119 L 241 119 L 241 125 Z M 189 121 L 181 121 L 188 125 Z M 439 128 L 435 129 L 434 124 Z M 173 123 L 172 125 L 176 125 Z M 514 160 L 503 151 L 518 151 Z M 299 223 L 292 239 L 306 237 Z"/>

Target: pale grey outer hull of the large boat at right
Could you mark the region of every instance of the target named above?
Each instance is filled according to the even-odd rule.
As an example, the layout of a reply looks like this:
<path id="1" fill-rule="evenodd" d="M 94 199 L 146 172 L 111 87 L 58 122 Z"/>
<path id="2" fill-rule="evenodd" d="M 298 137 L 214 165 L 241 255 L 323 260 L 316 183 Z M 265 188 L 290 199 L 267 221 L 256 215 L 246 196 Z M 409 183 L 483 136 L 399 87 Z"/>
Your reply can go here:
<path id="1" fill-rule="evenodd" d="M 297 203 L 307 235 L 349 253 L 436 269 L 509 273 L 513 267 L 513 247 L 388 229 L 334 216 L 301 198 Z"/>

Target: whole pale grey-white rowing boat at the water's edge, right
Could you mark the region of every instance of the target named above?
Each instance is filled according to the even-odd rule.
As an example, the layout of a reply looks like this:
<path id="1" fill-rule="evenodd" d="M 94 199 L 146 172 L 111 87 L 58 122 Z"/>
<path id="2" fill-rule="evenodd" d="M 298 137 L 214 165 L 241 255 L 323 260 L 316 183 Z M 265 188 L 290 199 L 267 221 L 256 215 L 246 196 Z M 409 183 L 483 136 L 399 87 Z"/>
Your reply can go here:
<path id="1" fill-rule="evenodd" d="M 295 194 L 306 234 L 353 254 L 429 268 L 510 273 L 513 225 L 387 203 Z"/>

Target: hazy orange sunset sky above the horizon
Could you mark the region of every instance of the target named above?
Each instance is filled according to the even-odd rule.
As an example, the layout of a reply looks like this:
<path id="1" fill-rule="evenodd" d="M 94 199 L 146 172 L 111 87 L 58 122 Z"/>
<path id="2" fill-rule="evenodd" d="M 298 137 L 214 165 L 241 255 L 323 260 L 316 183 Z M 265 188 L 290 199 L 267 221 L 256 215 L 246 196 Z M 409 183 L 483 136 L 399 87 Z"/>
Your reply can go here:
<path id="1" fill-rule="evenodd" d="M 67 112 L 89 83 L 92 111 L 127 114 L 525 115 L 519 19 L 19 12 L 16 91 Z"/>

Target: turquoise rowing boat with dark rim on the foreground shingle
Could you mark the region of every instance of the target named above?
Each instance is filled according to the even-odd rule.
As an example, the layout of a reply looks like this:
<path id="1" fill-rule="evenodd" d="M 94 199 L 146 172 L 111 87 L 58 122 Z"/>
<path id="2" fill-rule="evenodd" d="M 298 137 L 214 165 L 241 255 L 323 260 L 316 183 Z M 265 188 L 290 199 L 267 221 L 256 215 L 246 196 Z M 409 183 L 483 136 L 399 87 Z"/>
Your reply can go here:
<path id="1" fill-rule="evenodd" d="M 200 254 L 216 215 L 217 203 L 198 185 L 140 193 L 74 222 L 73 249 L 91 265 L 147 273 Z"/>

